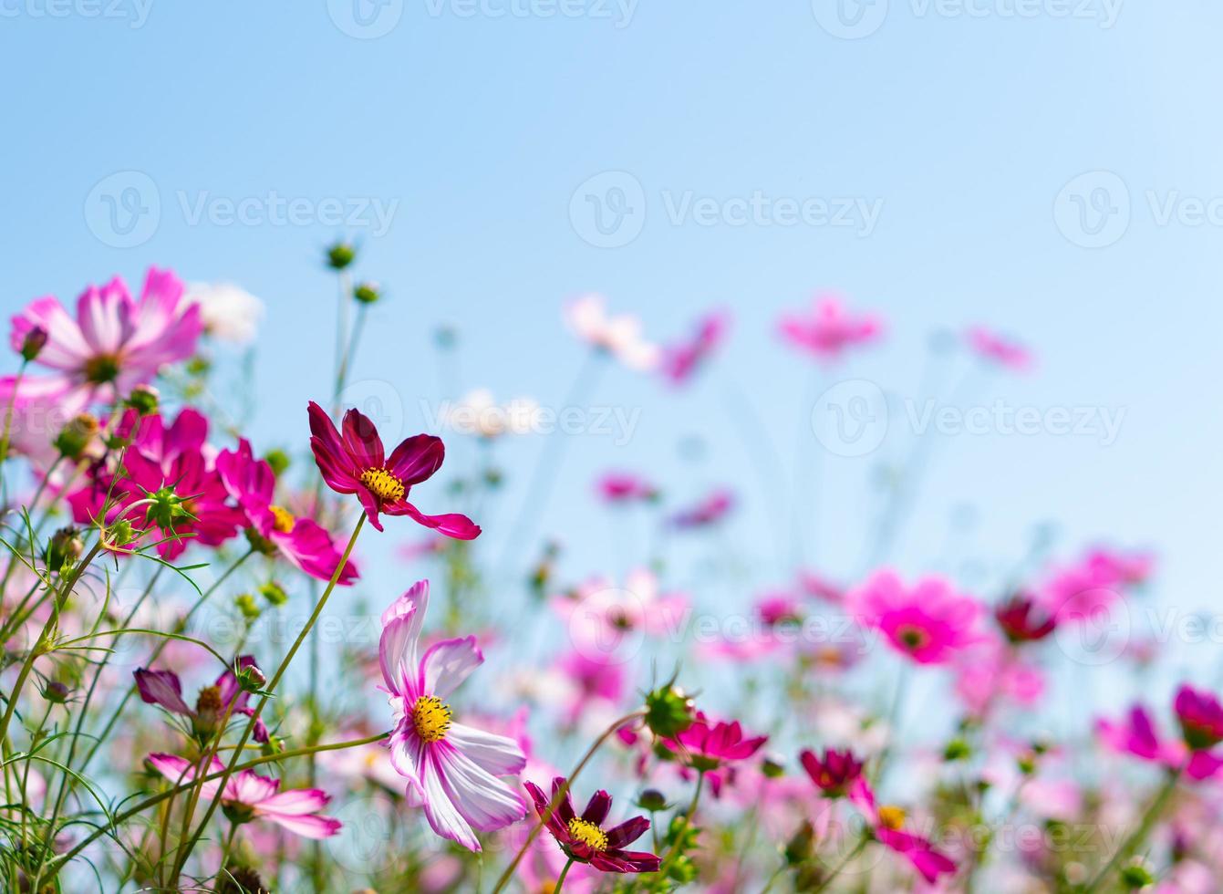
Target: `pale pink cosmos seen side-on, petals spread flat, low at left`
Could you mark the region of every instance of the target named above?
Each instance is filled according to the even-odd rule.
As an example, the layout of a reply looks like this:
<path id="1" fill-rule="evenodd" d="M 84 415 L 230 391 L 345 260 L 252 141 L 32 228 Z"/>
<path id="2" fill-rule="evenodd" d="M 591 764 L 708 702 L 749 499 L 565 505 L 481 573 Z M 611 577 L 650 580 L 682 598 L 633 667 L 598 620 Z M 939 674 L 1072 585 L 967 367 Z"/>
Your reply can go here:
<path id="1" fill-rule="evenodd" d="M 176 785 L 190 783 L 196 778 L 196 767 L 191 761 L 176 755 L 149 755 L 148 762 Z M 214 757 L 208 774 L 225 769 L 224 762 Z M 209 800 L 216 797 L 220 779 L 201 785 L 202 796 Z M 245 769 L 225 780 L 221 792 L 221 812 L 234 823 L 248 823 L 252 819 L 267 819 L 302 838 L 330 838 L 339 833 L 339 819 L 319 816 L 331 796 L 322 789 L 289 789 L 280 791 L 280 780 L 260 777 L 254 770 Z"/>

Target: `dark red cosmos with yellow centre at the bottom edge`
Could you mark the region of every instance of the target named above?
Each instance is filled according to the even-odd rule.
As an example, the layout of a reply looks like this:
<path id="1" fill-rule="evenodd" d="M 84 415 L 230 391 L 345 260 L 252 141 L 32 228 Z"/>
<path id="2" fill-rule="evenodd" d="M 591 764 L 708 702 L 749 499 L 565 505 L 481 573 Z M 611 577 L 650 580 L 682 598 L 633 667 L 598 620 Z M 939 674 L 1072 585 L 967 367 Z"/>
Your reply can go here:
<path id="1" fill-rule="evenodd" d="M 555 811 L 549 810 L 553 799 L 565 784 L 564 777 L 552 780 L 552 797 L 534 783 L 523 784 L 531 792 L 536 812 L 566 856 L 580 863 L 589 863 L 603 872 L 658 872 L 660 861 L 653 854 L 624 850 L 626 844 L 636 841 L 649 828 L 646 817 L 634 817 L 604 829 L 603 822 L 612 810 L 612 796 L 608 792 L 596 791 L 582 816 L 577 816 L 574 813 L 569 791 L 565 791 L 565 797 L 556 805 Z"/>

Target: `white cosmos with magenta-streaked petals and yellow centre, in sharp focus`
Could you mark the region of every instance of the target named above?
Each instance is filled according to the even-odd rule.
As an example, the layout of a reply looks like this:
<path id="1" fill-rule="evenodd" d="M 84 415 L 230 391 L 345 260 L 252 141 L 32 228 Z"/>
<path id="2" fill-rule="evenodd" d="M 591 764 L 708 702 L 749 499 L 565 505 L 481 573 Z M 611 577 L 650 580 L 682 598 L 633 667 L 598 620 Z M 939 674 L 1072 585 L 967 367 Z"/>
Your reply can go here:
<path id="1" fill-rule="evenodd" d="M 421 654 L 429 582 L 419 581 L 383 613 L 378 643 L 385 691 L 395 712 L 388 747 L 407 778 L 408 802 L 424 807 L 433 830 L 478 851 L 476 829 L 493 832 L 526 816 L 499 777 L 526 766 L 519 744 L 455 723 L 446 700 L 484 662 L 476 637 L 443 640 Z"/>

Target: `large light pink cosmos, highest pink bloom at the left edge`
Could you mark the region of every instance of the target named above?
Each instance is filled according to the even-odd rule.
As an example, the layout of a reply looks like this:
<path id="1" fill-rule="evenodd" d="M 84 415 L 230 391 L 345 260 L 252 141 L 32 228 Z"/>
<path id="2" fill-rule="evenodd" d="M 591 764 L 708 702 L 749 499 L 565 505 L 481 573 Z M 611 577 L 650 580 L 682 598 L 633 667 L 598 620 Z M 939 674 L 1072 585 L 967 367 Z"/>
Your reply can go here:
<path id="1" fill-rule="evenodd" d="M 89 400 L 116 400 L 150 382 L 168 363 L 190 357 L 203 333 L 199 308 L 182 301 L 182 283 L 155 267 L 149 268 L 138 301 L 116 276 L 100 289 L 86 289 L 77 298 L 76 318 L 59 298 L 38 298 L 12 318 L 13 349 L 20 351 L 35 328 L 46 331 L 35 362 L 51 374 L 23 378 L 18 399 L 86 394 Z M 13 378 L 0 379 L 5 397 Z"/>

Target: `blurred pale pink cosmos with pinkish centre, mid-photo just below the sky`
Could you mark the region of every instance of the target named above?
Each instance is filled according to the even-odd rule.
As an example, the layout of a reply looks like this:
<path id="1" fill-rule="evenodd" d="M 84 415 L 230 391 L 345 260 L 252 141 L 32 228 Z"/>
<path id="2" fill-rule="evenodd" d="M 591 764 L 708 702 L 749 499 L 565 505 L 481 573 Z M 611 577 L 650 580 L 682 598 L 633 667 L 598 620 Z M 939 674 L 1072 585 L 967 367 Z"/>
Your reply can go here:
<path id="1" fill-rule="evenodd" d="M 581 651 L 612 654 L 635 634 L 678 636 L 689 599 L 680 593 L 659 592 L 658 577 L 647 569 L 631 571 L 618 587 L 607 578 L 593 578 L 578 587 L 574 598 L 553 600 L 569 625 Z"/>

